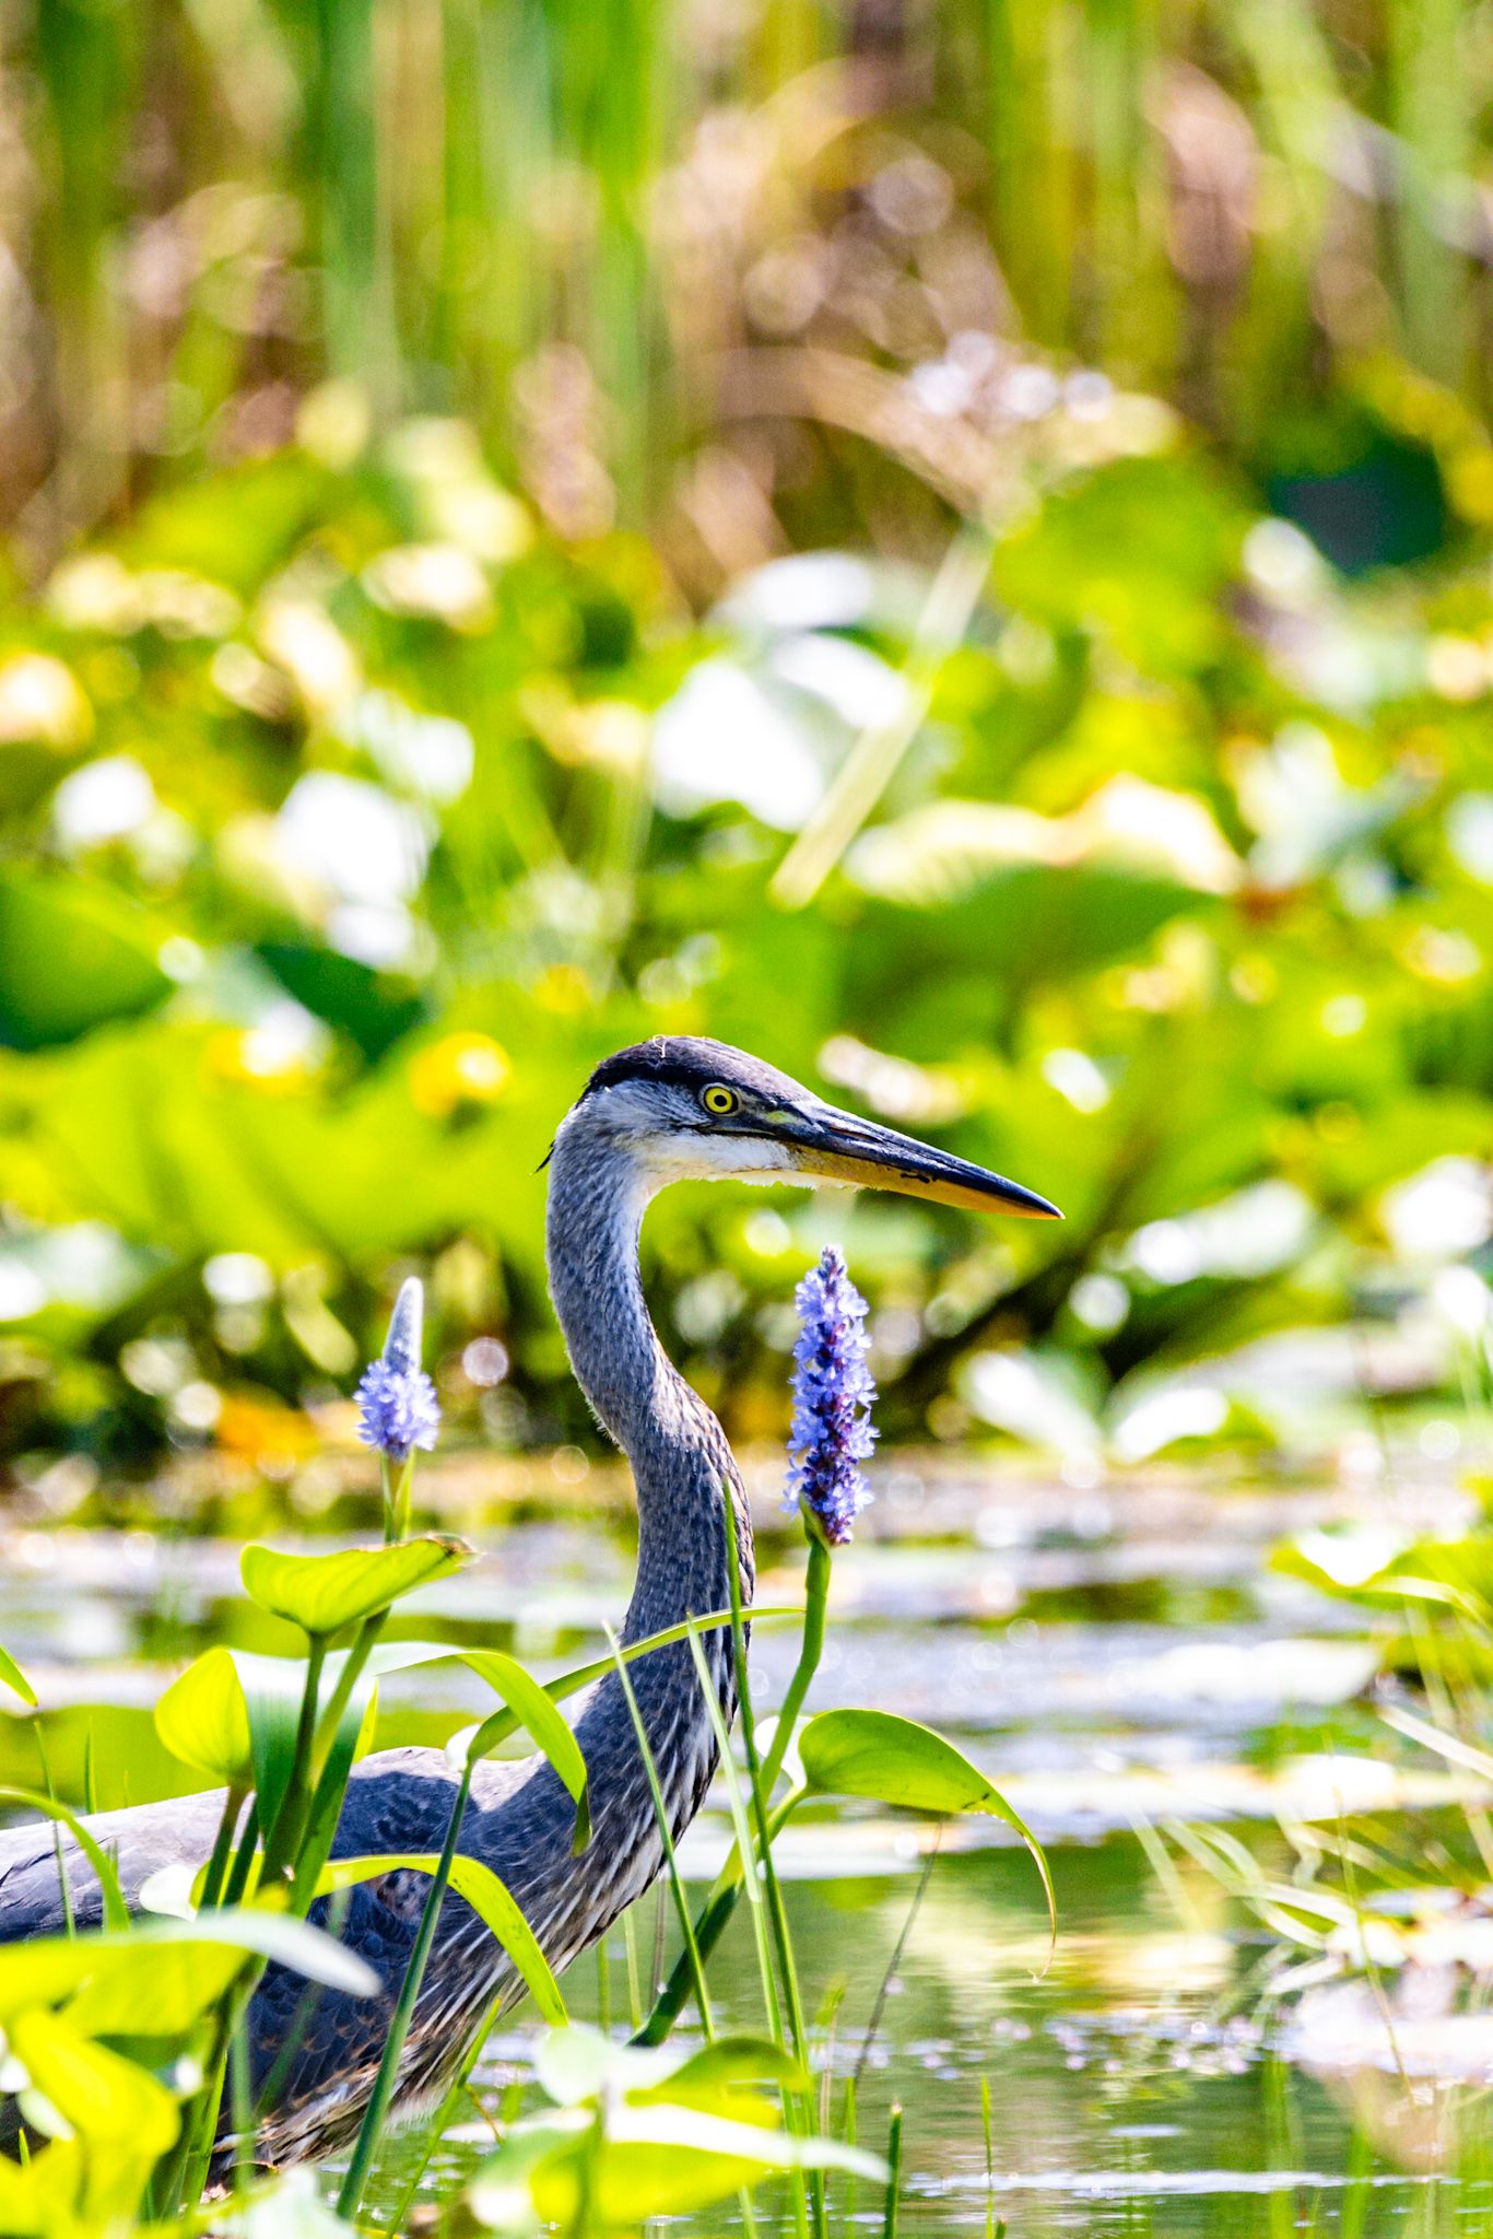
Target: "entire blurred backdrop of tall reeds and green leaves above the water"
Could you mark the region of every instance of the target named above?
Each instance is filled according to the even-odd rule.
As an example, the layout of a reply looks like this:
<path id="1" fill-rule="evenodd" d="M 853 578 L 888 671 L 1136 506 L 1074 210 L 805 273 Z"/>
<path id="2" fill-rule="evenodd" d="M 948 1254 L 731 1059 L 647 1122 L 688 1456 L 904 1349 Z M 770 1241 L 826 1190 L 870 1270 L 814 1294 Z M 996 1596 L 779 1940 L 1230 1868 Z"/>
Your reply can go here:
<path id="1" fill-rule="evenodd" d="M 38 0 L 11 65 L 27 1484 L 300 1482 L 407 1261 L 448 1408 L 584 1437 L 535 1167 L 660 1030 L 1068 1211 L 672 1193 L 736 1431 L 846 1218 L 898 1433 L 1480 1373 L 1477 11 Z"/>

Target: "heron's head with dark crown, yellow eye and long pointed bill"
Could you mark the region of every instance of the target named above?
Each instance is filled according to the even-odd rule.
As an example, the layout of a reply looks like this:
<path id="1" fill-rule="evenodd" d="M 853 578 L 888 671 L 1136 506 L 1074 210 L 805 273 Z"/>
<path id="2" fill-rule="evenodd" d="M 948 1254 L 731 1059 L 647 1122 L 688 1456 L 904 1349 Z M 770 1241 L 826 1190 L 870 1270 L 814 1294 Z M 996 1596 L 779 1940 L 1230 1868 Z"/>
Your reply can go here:
<path id="1" fill-rule="evenodd" d="M 660 1034 L 595 1068 L 560 1131 L 566 1158 L 620 1160 L 665 1182 L 851 1182 L 978 1214 L 1061 1220 L 1057 1205 L 965 1158 L 842 1113 L 725 1041 Z"/>

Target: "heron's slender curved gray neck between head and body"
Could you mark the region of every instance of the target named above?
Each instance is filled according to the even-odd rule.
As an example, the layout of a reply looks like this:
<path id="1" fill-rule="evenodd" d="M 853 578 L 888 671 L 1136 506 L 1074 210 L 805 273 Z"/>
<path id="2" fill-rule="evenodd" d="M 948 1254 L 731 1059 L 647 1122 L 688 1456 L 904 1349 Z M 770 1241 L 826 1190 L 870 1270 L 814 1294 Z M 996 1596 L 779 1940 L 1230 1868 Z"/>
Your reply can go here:
<path id="1" fill-rule="evenodd" d="M 548 1278 L 571 1366 L 633 1467 L 638 1583 L 627 1639 L 730 1599 L 723 1489 L 736 1511 L 743 1599 L 752 1527 L 721 1424 L 678 1375 L 642 1301 L 638 1229 L 647 1178 L 625 1151 L 562 1131 L 551 1162 Z"/>

